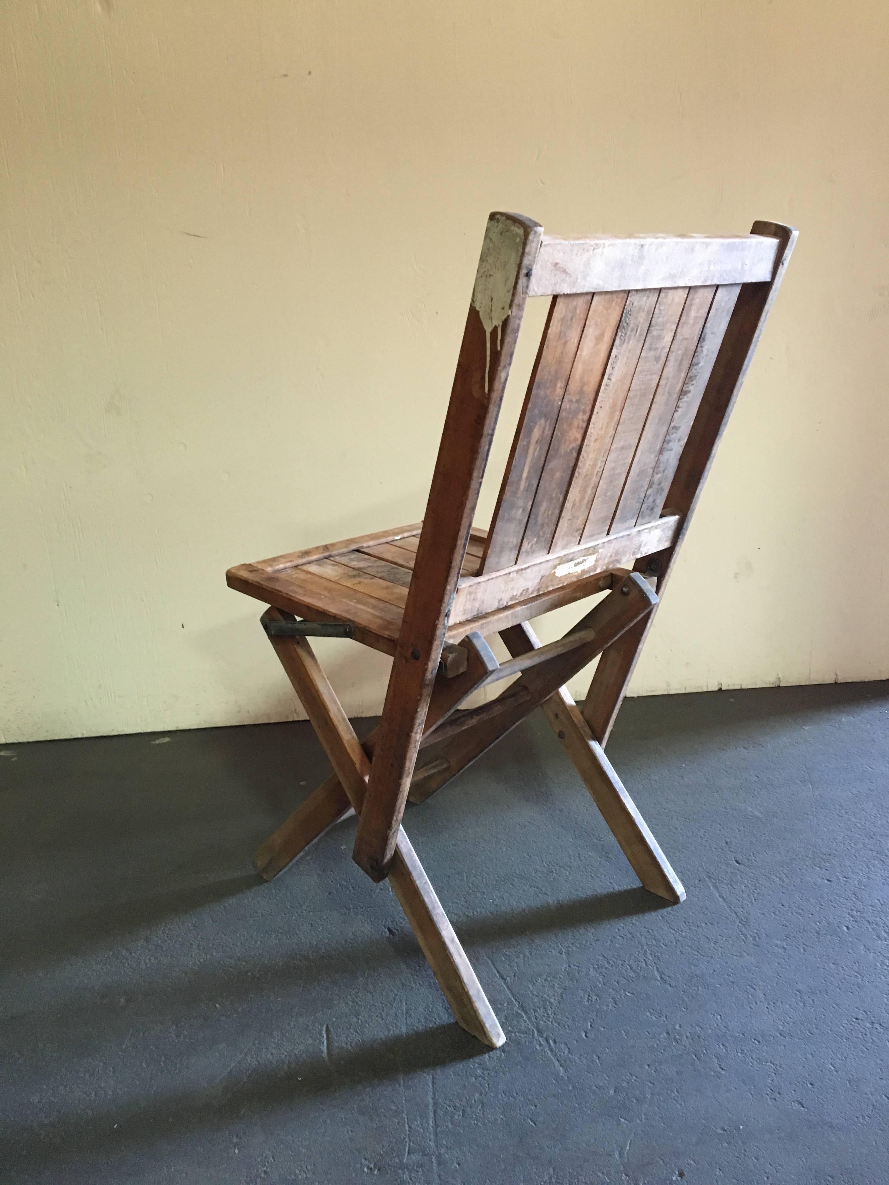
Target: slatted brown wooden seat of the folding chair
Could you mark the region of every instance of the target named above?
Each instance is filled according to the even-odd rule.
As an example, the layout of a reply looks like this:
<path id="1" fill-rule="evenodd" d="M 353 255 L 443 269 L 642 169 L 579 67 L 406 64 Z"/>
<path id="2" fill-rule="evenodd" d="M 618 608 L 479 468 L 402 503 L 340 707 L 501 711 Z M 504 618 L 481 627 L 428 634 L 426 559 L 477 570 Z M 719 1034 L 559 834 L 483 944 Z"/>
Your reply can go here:
<path id="1" fill-rule="evenodd" d="M 422 523 L 238 564 L 229 588 L 312 621 L 351 624 L 356 639 L 386 654 L 395 643 Z M 486 532 L 473 527 L 462 576 L 479 570 Z"/>

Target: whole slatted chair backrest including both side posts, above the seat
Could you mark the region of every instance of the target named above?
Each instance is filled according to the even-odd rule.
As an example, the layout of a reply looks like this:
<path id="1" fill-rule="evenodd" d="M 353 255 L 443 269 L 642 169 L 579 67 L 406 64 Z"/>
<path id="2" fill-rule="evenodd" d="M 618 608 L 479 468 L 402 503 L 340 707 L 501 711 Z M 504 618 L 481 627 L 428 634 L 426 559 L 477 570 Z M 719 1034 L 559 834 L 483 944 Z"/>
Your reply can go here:
<path id="1" fill-rule="evenodd" d="M 567 239 L 490 216 L 405 639 L 554 589 L 587 595 L 596 571 L 678 543 L 795 237 L 757 222 L 731 237 Z M 549 315 L 478 574 L 461 577 L 529 296 L 551 296 Z"/>

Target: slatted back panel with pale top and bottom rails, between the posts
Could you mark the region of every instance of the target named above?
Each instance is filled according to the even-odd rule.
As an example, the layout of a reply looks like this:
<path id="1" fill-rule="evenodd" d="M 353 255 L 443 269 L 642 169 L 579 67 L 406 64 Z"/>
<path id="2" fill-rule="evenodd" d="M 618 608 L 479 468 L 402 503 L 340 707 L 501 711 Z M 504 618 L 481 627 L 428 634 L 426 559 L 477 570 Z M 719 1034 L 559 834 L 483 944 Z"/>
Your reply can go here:
<path id="1" fill-rule="evenodd" d="M 552 301 L 480 571 L 459 582 L 452 622 L 632 568 L 678 539 L 689 507 L 665 504 L 733 314 L 749 320 L 738 295 L 767 290 L 789 254 L 781 232 L 795 238 L 754 229 L 763 232 L 541 237 L 526 295 Z M 721 418 L 729 404 L 730 393 Z"/>

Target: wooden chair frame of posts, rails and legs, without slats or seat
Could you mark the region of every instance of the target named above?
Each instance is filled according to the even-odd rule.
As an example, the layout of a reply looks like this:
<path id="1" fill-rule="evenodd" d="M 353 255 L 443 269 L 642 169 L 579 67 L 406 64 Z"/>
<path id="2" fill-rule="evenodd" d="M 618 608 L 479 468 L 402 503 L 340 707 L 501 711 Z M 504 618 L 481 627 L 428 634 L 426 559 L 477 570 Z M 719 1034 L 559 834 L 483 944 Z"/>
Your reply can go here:
<path id="1" fill-rule="evenodd" d="M 544 236 L 518 214 L 491 214 L 397 641 L 352 629 L 392 653 L 380 724 L 364 743 L 305 636 L 321 630 L 296 621 L 294 614 L 305 615 L 300 603 L 270 595 L 268 578 L 256 579 L 257 565 L 229 572 L 231 587 L 270 603 L 263 626 L 333 767 L 260 847 L 257 869 L 270 879 L 327 827 L 357 813 L 356 863 L 375 882 L 388 877 L 455 1019 L 494 1048 L 505 1040 L 503 1030 L 401 825 L 407 800 L 423 801 L 539 706 L 642 885 L 673 903 L 685 898 L 605 745 L 795 238 L 789 226 L 755 222 L 750 236 L 736 238 L 570 241 Z M 481 574 L 461 576 L 527 297 L 702 284 L 736 292 L 669 487 L 669 510 L 641 527 L 524 562 L 495 513 Z M 398 532 L 369 538 L 385 542 Z M 495 555 L 504 540 L 505 562 Z M 597 592 L 607 595 L 577 626 L 541 646 L 532 616 Z M 498 664 L 484 640 L 494 632 L 509 662 Z M 596 655 L 578 709 L 565 684 Z M 500 698 L 459 711 L 473 692 L 507 678 L 516 681 Z"/>

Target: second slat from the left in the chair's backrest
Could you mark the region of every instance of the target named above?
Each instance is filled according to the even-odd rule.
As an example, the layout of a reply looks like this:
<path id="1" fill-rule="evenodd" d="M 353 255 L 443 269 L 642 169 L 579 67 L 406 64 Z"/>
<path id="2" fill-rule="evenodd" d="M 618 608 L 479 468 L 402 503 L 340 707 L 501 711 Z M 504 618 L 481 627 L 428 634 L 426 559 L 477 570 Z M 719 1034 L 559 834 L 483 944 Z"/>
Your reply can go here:
<path id="1" fill-rule="evenodd" d="M 519 563 L 550 550 L 626 302 L 626 293 L 593 297 L 519 547 Z"/>

